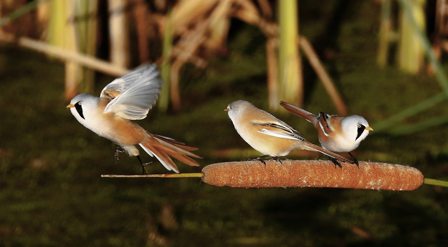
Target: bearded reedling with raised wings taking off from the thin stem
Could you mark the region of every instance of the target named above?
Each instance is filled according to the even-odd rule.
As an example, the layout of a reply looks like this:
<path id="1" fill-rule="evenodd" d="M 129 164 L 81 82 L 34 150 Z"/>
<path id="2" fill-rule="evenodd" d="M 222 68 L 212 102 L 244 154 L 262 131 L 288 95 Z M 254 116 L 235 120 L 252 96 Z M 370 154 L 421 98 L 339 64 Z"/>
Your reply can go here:
<path id="1" fill-rule="evenodd" d="M 101 91 L 100 98 L 90 94 L 75 96 L 67 108 L 79 123 L 121 146 L 130 156 L 137 156 L 147 174 L 136 145 L 155 156 L 168 170 L 179 172 L 168 155 L 191 166 L 198 162 L 188 157 L 201 158 L 187 146 L 169 137 L 151 134 L 131 122 L 146 118 L 156 103 L 162 87 L 160 71 L 155 64 L 141 65 L 128 74 L 113 80 Z"/>

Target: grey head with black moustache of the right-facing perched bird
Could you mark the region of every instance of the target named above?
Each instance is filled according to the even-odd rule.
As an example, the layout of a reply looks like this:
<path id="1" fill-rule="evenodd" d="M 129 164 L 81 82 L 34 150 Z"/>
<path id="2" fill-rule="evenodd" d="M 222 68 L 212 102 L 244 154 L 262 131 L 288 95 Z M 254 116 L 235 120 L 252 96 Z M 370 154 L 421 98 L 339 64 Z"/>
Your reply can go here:
<path id="1" fill-rule="evenodd" d="M 340 122 L 342 131 L 353 141 L 361 141 L 373 130 L 367 120 L 358 115 L 345 117 Z"/>

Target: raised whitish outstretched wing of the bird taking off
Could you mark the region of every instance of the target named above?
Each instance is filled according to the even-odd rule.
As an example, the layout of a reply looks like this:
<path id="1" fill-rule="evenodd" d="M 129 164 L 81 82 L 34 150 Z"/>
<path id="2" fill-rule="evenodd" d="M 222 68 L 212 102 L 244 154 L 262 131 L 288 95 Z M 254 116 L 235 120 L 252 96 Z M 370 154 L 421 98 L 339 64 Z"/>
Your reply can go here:
<path id="1" fill-rule="evenodd" d="M 155 64 L 144 64 L 113 80 L 101 92 L 100 97 L 112 98 L 104 113 L 113 112 L 129 120 L 146 118 L 160 94 L 159 74 Z"/>

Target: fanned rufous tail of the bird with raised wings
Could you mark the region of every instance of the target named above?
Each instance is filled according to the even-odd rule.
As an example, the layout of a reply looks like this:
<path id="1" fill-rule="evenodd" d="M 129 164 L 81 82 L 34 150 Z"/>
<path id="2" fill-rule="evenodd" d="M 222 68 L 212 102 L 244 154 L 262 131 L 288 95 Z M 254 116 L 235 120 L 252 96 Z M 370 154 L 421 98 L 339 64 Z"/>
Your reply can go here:
<path id="1" fill-rule="evenodd" d="M 191 166 L 199 166 L 199 163 L 189 156 L 202 159 L 201 156 L 191 152 L 198 150 L 198 148 L 160 135 L 151 134 L 139 144 L 145 152 L 151 156 L 155 156 L 166 169 L 176 173 L 179 173 L 179 169 L 168 155 Z"/>

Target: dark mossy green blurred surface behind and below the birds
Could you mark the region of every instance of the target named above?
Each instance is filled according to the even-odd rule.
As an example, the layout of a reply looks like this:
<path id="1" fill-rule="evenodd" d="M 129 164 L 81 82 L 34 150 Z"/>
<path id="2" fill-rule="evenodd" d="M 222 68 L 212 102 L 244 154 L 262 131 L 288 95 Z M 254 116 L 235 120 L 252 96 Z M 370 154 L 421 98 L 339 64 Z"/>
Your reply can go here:
<path id="1" fill-rule="evenodd" d="M 337 44 L 337 56 L 326 62 L 350 114 L 374 124 L 441 92 L 433 76 L 378 68 L 379 6 L 350 2 L 354 6 L 347 12 L 354 12 L 344 15 L 337 39 L 329 40 Z M 303 5 L 310 12 L 300 9 L 302 34 L 322 45 L 322 21 L 331 19 L 336 7 Z M 323 13 L 320 19 L 310 17 L 317 12 Z M 267 110 L 263 42 L 256 28 L 242 25 L 230 36 L 229 56 L 211 61 L 206 70 L 182 69 L 180 113 L 154 108 L 137 123 L 199 147 L 202 166 L 249 158 L 222 158 L 214 151 L 250 148 L 224 109 L 245 99 Z M 319 81 L 305 73 L 304 107 L 336 113 Z M 98 75 L 96 95 L 112 79 Z M 138 174 L 141 168 L 126 154 L 115 163 L 115 146 L 76 121 L 66 109 L 63 83 L 59 61 L 0 46 L 0 246 L 448 245 L 448 190 L 437 186 L 409 192 L 241 189 L 214 187 L 198 178 L 101 178 Z M 401 124 L 447 113 L 443 102 Z M 308 122 L 286 112 L 273 114 L 317 143 Z M 448 180 L 447 135 L 447 124 L 403 136 L 373 132 L 354 153 L 359 160 L 410 165 L 425 177 Z M 142 158 L 151 160 L 146 154 Z M 167 172 L 158 162 L 147 170 Z"/>

